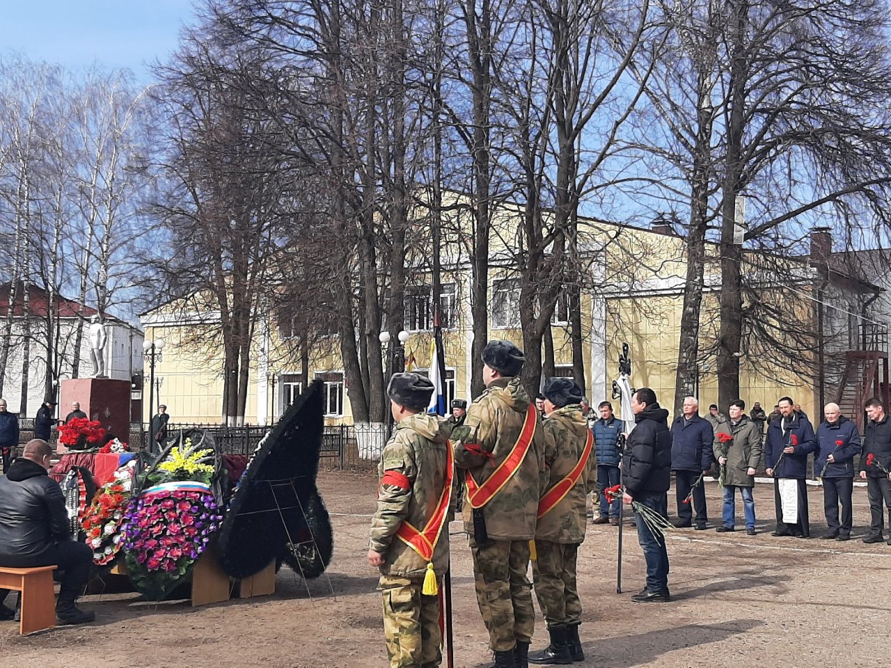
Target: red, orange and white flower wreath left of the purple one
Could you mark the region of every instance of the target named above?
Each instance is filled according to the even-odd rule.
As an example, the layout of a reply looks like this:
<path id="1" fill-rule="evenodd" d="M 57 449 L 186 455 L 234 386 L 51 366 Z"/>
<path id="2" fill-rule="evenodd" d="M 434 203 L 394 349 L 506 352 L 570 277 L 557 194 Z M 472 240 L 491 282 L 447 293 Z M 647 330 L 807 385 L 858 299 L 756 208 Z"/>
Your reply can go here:
<path id="1" fill-rule="evenodd" d="M 86 544 L 93 550 L 96 566 L 108 566 L 122 545 L 121 524 L 130 498 L 135 461 L 119 468 L 115 477 L 93 497 L 81 525 L 86 533 Z"/>

